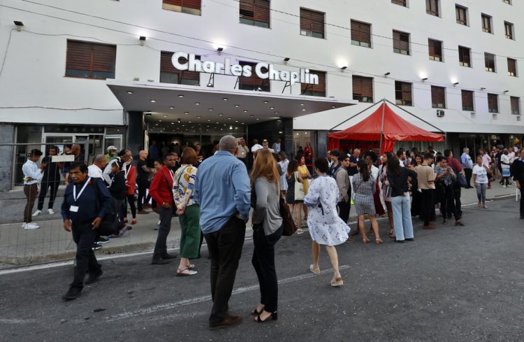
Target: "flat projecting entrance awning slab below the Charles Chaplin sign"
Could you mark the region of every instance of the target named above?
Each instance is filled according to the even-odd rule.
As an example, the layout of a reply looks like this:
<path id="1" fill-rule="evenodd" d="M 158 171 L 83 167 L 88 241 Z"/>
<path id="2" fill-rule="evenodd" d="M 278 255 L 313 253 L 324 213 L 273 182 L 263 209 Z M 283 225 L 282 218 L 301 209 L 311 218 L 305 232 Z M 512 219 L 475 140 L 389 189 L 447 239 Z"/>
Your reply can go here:
<path id="1" fill-rule="evenodd" d="M 147 120 L 154 124 L 178 119 L 201 124 L 253 124 L 357 104 L 332 97 L 226 91 L 169 83 L 108 80 L 107 85 L 126 111 L 152 113 Z"/>

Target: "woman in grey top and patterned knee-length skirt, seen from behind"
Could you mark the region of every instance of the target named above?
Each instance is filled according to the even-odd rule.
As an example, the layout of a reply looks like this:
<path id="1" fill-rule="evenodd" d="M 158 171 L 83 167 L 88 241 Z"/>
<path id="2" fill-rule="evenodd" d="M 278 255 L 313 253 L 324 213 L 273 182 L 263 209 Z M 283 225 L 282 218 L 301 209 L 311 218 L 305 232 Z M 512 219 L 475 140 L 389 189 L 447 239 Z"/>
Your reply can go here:
<path id="1" fill-rule="evenodd" d="M 361 159 L 357 163 L 358 173 L 353 176 L 353 191 L 355 192 L 355 210 L 358 215 L 358 229 L 362 234 L 363 243 L 368 243 L 370 240 L 365 234 L 364 228 L 364 215 L 367 214 L 367 217 L 370 218 L 371 227 L 374 232 L 375 241 L 377 245 L 382 243 L 382 239 L 379 235 L 379 225 L 377 219 L 375 218 L 376 212 L 374 209 L 374 192 L 377 191 L 377 185 L 375 185 L 375 180 L 370 174 L 370 169 L 367 165 L 367 162 L 364 159 Z"/>

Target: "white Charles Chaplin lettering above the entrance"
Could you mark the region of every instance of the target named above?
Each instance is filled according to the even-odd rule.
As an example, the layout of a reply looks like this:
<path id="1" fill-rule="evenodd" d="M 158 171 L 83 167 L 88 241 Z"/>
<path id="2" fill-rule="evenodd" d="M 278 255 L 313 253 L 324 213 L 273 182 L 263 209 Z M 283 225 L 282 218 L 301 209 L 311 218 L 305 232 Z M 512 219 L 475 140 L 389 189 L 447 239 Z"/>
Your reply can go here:
<path id="1" fill-rule="evenodd" d="M 180 63 L 180 58 L 184 58 L 185 62 Z M 187 70 L 187 71 L 198 71 L 199 73 L 219 73 L 222 75 L 233 75 L 233 76 L 243 76 L 251 77 L 253 74 L 252 66 L 250 65 L 240 65 L 240 64 L 231 64 L 228 58 L 224 60 L 224 63 L 212 62 L 212 61 L 201 61 L 196 59 L 194 53 L 187 52 L 175 52 L 171 59 L 173 66 L 178 70 Z M 267 62 L 259 62 L 255 65 L 254 73 L 258 78 L 263 80 L 282 80 L 290 82 L 291 85 L 296 83 L 306 83 L 312 85 L 319 84 L 319 76 L 310 73 L 309 69 L 300 69 L 298 71 L 288 71 L 282 70 L 279 71 L 275 69 L 273 64 Z"/>

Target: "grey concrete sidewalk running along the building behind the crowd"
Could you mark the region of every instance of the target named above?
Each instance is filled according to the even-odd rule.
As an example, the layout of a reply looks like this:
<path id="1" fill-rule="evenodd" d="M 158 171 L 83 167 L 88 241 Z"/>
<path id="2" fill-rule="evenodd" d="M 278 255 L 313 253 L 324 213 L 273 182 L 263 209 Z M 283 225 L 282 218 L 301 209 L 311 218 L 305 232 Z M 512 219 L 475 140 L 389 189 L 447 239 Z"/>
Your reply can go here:
<path id="1" fill-rule="evenodd" d="M 488 190 L 488 200 L 515 198 L 515 186 L 504 189 L 498 182 L 492 184 L 492 189 Z M 55 204 L 55 209 L 59 211 L 59 202 Z M 462 203 L 476 204 L 475 189 L 462 190 Z M 510 202 L 511 203 L 511 202 Z M 516 203 L 516 202 L 515 202 Z M 23 208 L 18 204 L 16 208 Z M 6 210 L 14 210 L 12 207 L 2 207 L 2 215 Z M 489 209 L 488 209 L 489 210 Z M 351 210 L 350 221 L 356 220 L 354 210 Z M 13 215 L 14 213 L 8 213 Z M 34 264 L 38 262 L 48 262 L 53 260 L 71 259 L 75 255 L 76 245 L 71 239 L 71 233 L 64 231 L 63 222 L 54 218 L 58 216 L 43 214 L 38 216 L 35 222 L 41 226 L 36 230 L 22 229 L 22 224 L 6 223 L 0 225 L 0 263 L 10 265 Z M 59 217 L 59 216 L 58 216 Z M 109 243 L 103 244 L 103 248 L 97 250 L 98 255 L 146 252 L 152 250 L 157 239 L 157 226 L 159 216 L 150 212 L 148 215 L 137 215 L 138 223 L 133 225 L 131 231 L 127 231 L 120 238 L 111 239 Z M 129 215 L 131 219 L 131 215 Z M 467 220 L 467 218 L 465 218 Z M 354 228 L 354 227 L 353 227 Z M 246 236 L 252 236 L 251 222 L 247 223 Z M 171 231 L 168 236 L 168 248 L 176 248 L 180 243 L 180 223 L 178 218 L 173 218 Z M 205 250 L 205 247 L 204 247 Z M 2 266 L 0 266 L 1 268 Z"/>

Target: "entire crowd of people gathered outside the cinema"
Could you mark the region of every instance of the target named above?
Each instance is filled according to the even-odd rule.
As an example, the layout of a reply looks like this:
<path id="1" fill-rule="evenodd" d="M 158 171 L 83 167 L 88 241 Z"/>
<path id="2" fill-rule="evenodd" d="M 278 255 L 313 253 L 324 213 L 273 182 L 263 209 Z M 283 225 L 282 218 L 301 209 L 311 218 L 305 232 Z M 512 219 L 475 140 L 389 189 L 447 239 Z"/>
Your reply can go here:
<path id="1" fill-rule="evenodd" d="M 52 146 L 47 155 L 57 152 L 58 148 Z M 77 253 L 73 282 L 63 298 L 77 298 L 85 284 L 100 278 L 103 272 L 93 251 L 99 243 L 122 236 L 136 224 L 136 215 L 150 214 L 145 208 L 151 207 L 159 215 L 152 264 L 170 264 L 177 257 L 167 248 L 173 217 L 178 218 L 181 227 L 176 276 L 196 276 L 198 271 L 191 259 L 200 257 L 204 239 L 208 245 L 211 329 L 230 327 L 242 320 L 229 313 L 228 300 L 250 213 L 252 265 L 261 292 L 252 314 L 255 322 L 267 322 L 277 320 L 275 245 L 283 234 L 284 217 L 293 218 L 297 234 L 310 232 L 312 273 L 321 273 L 321 245 L 326 247 L 333 266 L 330 285 L 340 287 L 344 282 L 336 246 L 356 242 L 358 234 L 364 244 L 370 243 L 370 236 L 374 236 L 376 245 L 384 243 L 378 217 L 387 217 L 387 234 L 395 242 L 405 243 L 414 241 L 416 218 L 423 222 L 423 229 L 435 229 L 437 212 L 442 225 L 453 219 L 455 225 L 464 226 L 460 201 L 463 189 L 476 188 L 481 208 L 487 208 L 486 191 L 499 177 L 504 187 L 511 186 L 514 180 L 521 193 L 524 189 L 524 148 L 520 146 L 516 150 L 497 146 L 488 153 L 479 150 L 474 159 L 467 148 L 456 158 L 452 150 L 441 153 L 431 146 L 423 152 L 401 148 L 380 156 L 377 150 L 330 150 L 326 158 L 314 158 L 307 143 L 291 158 L 279 139 L 271 148 L 267 140 L 259 145 L 255 139 L 249 148 L 244 138 L 224 136 L 210 152 L 205 152 L 199 143 L 159 148 L 153 141 L 149 150 L 138 152 L 136 163 L 132 162 L 130 150 L 116 152 L 112 146 L 107 155 L 96 155 L 89 166 L 83 162 L 80 146 L 73 145 L 71 154 L 75 155 L 74 162 L 54 163 L 46 156 L 38 166 L 43 153 L 32 150 L 22 167 L 27 196 L 25 229 L 38 228 L 31 217 L 41 215 L 49 188 L 51 213 L 60 175 L 67 177 L 61 215 L 64 229 L 72 231 Z M 31 215 L 39 182 L 41 199 L 38 210 Z M 127 206 L 131 209 L 131 226 Z M 357 229 L 348 225 L 351 206 L 356 213 Z M 524 199 L 520 214 L 524 219 Z M 366 217 L 369 231 L 365 229 Z"/>

